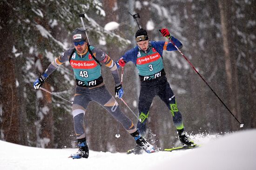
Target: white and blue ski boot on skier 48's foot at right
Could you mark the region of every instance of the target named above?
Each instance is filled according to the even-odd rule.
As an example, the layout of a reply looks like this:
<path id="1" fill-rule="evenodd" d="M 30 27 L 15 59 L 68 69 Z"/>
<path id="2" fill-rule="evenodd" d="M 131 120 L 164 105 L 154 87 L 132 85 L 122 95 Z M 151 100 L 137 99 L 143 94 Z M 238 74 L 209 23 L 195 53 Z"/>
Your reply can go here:
<path id="1" fill-rule="evenodd" d="M 132 137 L 134 137 L 136 144 L 147 153 L 155 152 L 155 148 L 152 144 L 149 144 L 138 131 L 131 133 Z"/>

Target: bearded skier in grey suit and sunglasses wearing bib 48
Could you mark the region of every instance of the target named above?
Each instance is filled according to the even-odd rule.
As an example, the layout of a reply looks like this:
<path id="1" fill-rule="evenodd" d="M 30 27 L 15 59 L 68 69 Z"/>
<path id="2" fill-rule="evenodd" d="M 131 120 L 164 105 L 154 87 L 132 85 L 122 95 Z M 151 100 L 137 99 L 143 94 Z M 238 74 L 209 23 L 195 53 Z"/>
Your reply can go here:
<path id="1" fill-rule="evenodd" d="M 135 138 L 136 144 L 148 153 L 154 152 L 154 147 L 149 144 L 137 131 L 133 122 L 120 110 L 115 98 L 108 92 L 101 76 L 101 64 L 110 68 L 115 80 L 115 97 L 121 98 L 123 89 L 115 62 L 100 49 L 90 46 L 85 30 L 77 28 L 73 31 L 74 47 L 66 50 L 61 56 L 54 59 L 42 76 L 34 82 L 34 88 L 39 89 L 46 78 L 61 64 L 69 61 L 74 71 L 76 90 L 72 105 L 74 118 L 74 131 L 78 141 L 79 150 L 71 154 L 72 158 L 88 158 L 89 149 L 85 137 L 83 124 L 84 115 L 88 104 L 95 101 L 104 107 L 124 129 Z"/>

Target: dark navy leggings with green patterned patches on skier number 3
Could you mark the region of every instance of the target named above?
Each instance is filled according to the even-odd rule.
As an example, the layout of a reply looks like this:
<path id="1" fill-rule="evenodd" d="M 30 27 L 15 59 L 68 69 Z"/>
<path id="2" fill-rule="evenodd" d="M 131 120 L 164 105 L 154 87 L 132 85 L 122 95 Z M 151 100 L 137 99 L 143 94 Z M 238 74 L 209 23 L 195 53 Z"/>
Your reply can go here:
<path id="1" fill-rule="evenodd" d="M 159 96 L 168 106 L 177 130 L 183 128 L 182 115 L 177 108 L 175 95 L 166 79 L 162 77 L 154 82 L 141 82 L 141 92 L 139 97 L 139 113 L 141 122 L 138 122 L 137 128 L 144 135 L 146 132 L 146 123 L 149 115 L 149 108 L 153 98 Z"/>

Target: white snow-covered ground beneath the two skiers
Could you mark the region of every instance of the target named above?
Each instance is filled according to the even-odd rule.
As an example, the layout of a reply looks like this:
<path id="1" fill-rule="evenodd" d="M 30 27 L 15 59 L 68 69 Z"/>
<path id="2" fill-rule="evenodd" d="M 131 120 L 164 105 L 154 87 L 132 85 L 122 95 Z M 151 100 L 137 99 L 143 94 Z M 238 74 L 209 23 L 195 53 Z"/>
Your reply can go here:
<path id="1" fill-rule="evenodd" d="M 256 130 L 194 136 L 193 150 L 142 155 L 96 152 L 67 158 L 77 149 L 41 149 L 0 141 L 0 170 L 256 170 Z"/>

